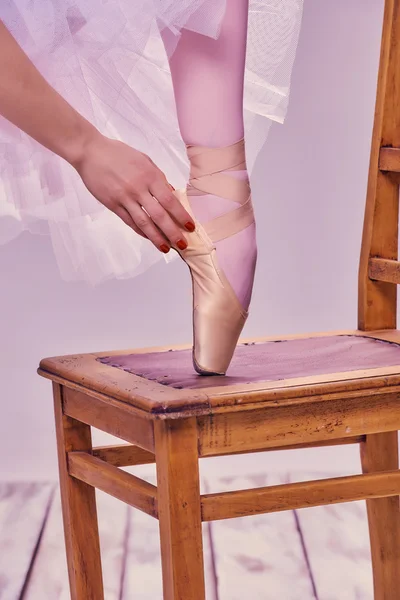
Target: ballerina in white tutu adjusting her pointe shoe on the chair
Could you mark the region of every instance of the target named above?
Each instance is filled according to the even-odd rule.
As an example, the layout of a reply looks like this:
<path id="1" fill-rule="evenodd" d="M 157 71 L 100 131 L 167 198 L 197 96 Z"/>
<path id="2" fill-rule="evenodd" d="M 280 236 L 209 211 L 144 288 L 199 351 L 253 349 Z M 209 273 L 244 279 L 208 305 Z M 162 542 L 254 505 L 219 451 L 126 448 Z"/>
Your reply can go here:
<path id="1" fill-rule="evenodd" d="M 30 136 L 4 121 L 5 237 L 48 231 L 63 277 L 93 283 L 173 248 L 192 275 L 194 367 L 224 374 L 257 258 L 246 154 L 283 120 L 302 0 L 143 4 L 0 9 L 38 67 L 3 26 L 0 113 Z"/>

